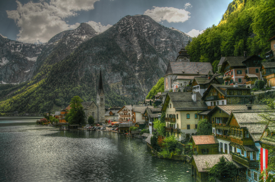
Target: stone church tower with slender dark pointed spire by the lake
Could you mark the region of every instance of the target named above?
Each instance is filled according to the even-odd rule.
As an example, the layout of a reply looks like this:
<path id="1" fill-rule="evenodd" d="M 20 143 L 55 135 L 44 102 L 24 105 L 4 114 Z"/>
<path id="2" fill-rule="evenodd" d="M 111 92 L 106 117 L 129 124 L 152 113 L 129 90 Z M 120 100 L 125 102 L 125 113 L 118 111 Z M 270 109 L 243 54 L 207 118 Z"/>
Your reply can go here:
<path id="1" fill-rule="evenodd" d="M 102 76 L 101 76 L 101 67 L 99 73 L 99 84 L 98 84 L 98 91 L 96 96 L 96 104 L 98 107 L 98 123 L 105 122 L 105 94 L 103 90 L 103 83 L 102 83 Z"/>

